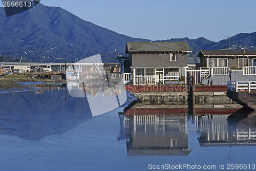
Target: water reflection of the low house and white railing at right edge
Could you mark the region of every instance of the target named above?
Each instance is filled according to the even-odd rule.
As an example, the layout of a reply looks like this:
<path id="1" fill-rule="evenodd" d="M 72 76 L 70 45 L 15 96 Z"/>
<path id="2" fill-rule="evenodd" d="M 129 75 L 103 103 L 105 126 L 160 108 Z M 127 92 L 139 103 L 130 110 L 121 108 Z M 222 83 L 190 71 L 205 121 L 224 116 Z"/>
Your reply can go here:
<path id="1" fill-rule="evenodd" d="M 256 144 L 256 126 L 228 121 L 228 115 L 196 116 L 201 146 Z"/>

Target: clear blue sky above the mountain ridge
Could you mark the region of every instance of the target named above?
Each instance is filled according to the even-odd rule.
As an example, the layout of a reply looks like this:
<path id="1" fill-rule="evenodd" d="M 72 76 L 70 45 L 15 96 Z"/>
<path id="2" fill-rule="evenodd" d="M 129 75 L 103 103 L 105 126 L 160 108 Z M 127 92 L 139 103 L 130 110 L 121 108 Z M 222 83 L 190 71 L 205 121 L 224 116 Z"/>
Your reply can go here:
<path id="1" fill-rule="evenodd" d="M 256 32 L 256 0 L 41 0 L 98 26 L 151 40 L 205 37 L 219 41 Z"/>

